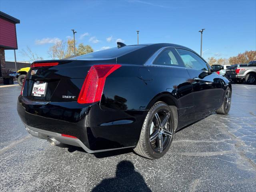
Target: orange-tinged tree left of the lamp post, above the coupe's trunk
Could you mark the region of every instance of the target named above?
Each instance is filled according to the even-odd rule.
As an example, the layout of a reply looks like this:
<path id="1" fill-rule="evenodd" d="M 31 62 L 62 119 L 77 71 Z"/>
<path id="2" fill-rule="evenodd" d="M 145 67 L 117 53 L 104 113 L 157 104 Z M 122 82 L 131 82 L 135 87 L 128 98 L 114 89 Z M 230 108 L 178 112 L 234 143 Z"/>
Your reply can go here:
<path id="1" fill-rule="evenodd" d="M 52 59 L 63 59 L 66 52 L 66 43 L 64 41 L 57 42 L 55 45 L 51 46 L 48 50 L 48 55 Z"/>

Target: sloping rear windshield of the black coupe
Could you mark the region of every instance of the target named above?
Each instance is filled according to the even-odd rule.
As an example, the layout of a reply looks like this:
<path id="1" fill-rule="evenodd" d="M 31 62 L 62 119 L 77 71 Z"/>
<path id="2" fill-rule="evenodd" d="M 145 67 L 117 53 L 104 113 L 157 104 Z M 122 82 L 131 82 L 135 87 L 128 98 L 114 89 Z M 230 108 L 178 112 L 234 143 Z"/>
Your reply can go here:
<path id="1" fill-rule="evenodd" d="M 140 49 L 142 47 L 145 47 L 146 45 L 129 45 L 129 46 L 124 46 L 121 48 L 110 48 L 110 49 L 106 49 L 106 50 L 102 50 L 102 51 L 96 51 L 96 52 L 92 52 L 92 53 L 88 53 L 85 55 L 81 55 L 78 57 L 74 57 L 72 58 L 72 60 L 74 59 L 93 59 L 93 58 L 116 58 L 119 56 L 122 56 L 124 54 L 127 54 L 129 52 L 135 51 L 137 49 Z"/>

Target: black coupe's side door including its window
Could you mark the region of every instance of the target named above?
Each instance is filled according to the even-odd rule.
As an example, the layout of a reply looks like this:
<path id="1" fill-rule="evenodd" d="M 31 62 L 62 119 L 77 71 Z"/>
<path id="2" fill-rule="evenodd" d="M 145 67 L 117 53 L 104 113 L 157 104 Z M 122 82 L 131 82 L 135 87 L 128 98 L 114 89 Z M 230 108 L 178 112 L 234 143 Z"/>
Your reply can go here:
<path id="1" fill-rule="evenodd" d="M 196 53 L 176 48 L 190 76 L 193 86 L 195 119 L 199 120 L 220 106 L 222 84 L 215 72 Z"/>

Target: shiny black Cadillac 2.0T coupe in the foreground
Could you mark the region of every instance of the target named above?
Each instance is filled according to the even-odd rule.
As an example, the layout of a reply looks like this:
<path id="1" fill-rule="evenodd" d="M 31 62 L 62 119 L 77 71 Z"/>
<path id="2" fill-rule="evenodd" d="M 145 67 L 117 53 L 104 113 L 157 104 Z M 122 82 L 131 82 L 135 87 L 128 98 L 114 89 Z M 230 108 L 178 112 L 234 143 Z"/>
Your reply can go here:
<path id="1" fill-rule="evenodd" d="M 232 87 L 218 70 L 184 46 L 118 43 L 32 63 L 17 110 L 30 134 L 53 145 L 88 153 L 133 148 L 156 159 L 181 128 L 229 112 Z"/>

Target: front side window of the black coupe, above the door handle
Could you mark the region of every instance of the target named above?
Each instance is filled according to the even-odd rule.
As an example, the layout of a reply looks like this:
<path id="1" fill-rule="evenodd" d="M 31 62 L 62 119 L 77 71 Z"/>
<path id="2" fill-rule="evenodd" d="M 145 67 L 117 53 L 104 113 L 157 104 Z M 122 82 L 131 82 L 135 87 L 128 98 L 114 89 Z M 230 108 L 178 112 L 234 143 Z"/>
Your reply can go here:
<path id="1" fill-rule="evenodd" d="M 208 71 L 206 62 L 204 62 L 204 60 L 202 60 L 197 54 L 184 49 L 176 48 L 176 50 L 179 53 L 181 59 L 183 60 L 186 68 Z"/>

